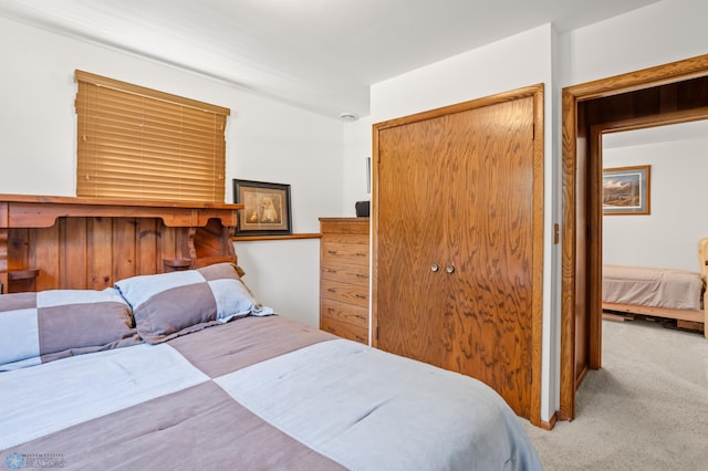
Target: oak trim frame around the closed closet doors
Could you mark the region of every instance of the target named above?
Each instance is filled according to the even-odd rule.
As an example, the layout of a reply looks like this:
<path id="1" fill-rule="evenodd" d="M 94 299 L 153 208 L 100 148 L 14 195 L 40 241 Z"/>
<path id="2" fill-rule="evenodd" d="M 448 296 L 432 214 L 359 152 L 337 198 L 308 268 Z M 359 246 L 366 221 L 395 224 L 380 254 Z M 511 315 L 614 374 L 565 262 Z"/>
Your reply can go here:
<path id="1" fill-rule="evenodd" d="M 493 105 L 512 100 L 533 97 L 533 254 L 532 278 L 533 293 L 531 300 L 531 398 L 529 420 L 538 427 L 552 428 L 552 423 L 541 420 L 541 389 L 542 389 L 542 344 L 543 344 L 543 220 L 544 220 L 544 166 L 545 166 L 545 133 L 544 133 L 544 84 L 540 83 L 513 91 L 485 96 L 469 102 L 458 103 L 441 108 L 430 109 L 389 119 L 373 125 L 372 149 L 372 345 L 377 346 L 376 333 L 378 318 L 376 302 L 378 299 L 378 133 L 392 126 L 400 126 L 423 119 L 429 119 L 450 113 Z"/>

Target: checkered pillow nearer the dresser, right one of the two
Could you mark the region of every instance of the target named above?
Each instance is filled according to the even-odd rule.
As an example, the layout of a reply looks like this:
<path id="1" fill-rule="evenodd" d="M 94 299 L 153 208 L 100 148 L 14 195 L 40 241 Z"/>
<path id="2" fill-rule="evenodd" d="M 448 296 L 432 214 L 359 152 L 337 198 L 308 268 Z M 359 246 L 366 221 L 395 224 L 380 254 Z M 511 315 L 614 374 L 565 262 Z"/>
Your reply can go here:
<path id="1" fill-rule="evenodd" d="M 243 284 L 233 263 L 121 280 L 137 332 L 150 344 L 246 315 L 270 315 Z"/>

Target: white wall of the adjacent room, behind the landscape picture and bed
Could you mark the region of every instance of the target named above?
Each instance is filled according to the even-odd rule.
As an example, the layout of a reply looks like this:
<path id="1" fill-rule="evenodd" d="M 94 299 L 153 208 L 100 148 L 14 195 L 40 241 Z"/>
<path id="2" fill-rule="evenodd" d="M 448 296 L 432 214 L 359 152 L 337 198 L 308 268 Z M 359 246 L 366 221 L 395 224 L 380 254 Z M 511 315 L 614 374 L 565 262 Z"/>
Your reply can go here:
<path id="1" fill-rule="evenodd" d="M 650 214 L 603 217 L 603 263 L 699 272 L 708 237 L 708 136 L 603 150 L 603 167 L 650 165 Z"/>

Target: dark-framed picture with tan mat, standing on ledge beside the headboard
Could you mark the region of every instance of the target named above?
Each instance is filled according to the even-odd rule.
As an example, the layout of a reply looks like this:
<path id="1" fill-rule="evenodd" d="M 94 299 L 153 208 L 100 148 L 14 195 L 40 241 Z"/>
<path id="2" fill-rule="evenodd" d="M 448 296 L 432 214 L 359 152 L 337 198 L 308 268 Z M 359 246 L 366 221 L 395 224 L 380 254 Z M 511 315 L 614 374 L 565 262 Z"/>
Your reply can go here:
<path id="1" fill-rule="evenodd" d="M 233 179 L 233 202 L 239 210 L 236 236 L 287 236 L 292 233 L 290 185 Z"/>

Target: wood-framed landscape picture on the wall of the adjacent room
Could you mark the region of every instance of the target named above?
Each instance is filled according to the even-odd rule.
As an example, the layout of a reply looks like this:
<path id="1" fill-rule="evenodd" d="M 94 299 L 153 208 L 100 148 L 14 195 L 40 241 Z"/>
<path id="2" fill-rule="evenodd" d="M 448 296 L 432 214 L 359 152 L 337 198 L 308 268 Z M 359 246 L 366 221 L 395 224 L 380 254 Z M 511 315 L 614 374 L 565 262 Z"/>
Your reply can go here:
<path id="1" fill-rule="evenodd" d="M 602 170 L 603 214 L 650 214 L 648 165 Z"/>

